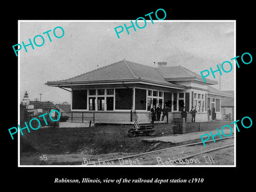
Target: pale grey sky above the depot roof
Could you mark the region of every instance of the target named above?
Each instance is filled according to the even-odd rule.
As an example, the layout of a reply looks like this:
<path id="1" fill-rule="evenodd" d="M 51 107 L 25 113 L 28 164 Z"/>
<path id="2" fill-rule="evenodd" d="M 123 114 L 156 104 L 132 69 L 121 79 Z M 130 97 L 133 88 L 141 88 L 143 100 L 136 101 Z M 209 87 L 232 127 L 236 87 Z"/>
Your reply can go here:
<path id="1" fill-rule="evenodd" d="M 183 66 L 200 75 L 200 71 L 230 61 L 235 55 L 235 25 L 233 21 L 198 22 L 147 20 L 143 29 L 136 27 L 125 29 L 117 37 L 114 28 L 131 25 L 130 20 L 124 21 L 20 21 L 19 42 L 29 44 L 36 35 L 44 37 L 42 46 L 22 47 L 19 54 L 20 101 L 28 91 L 30 100 L 39 99 L 70 103 L 71 94 L 59 87 L 45 85 L 47 81 L 58 81 L 81 75 L 88 71 L 121 61 L 137 62 L 156 67 L 155 62 L 165 61 L 167 66 Z M 144 22 L 138 22 L 143 26 Z M 61 38 L 53 35 L 55 27 L 62 27 L 65 34 Z M 45 31 L 49 31 L 52 42 Z M 119 30 L 119 29 L 118 29 Z M 55 30 L 57 36 L 62 31 Z M 42 44 L 40 37 L 37 44 Z M 15 53 L 14 53 L 15 54 Z M 233 70 L 222 73 L 221 90 L 234 90 Z M 226 70 L 230 68 L 225 66 Z M 207 78 L 213 79 L 209 76 Z M 219 81 L 219 78 L 215 78 Z M 213 86 L 219 89 L 219 85 Z"/>

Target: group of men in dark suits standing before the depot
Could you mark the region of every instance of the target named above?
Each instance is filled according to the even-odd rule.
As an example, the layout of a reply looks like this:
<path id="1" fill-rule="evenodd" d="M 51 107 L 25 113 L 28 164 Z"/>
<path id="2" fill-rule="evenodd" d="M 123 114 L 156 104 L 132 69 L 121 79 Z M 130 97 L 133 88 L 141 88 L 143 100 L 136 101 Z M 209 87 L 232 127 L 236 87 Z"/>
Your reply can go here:
<path id="1" fill-rule="evenodd" d="M 165 107 L 162 109 L 161 105 L 158 105 L 158 107 L 155 109 L 155 106 L 153 106 L 150 110 L 150 114 L 151 114 L 151 123 L 153 124 L 155 121 L 160 121 L 161 118 L 161 113 L 163 112 L 163 117 L 162 117 L 162 121 L 164 120 L 164 117 L 166 116 L 166 123 L 169 123 L 168 121 L 168 109 Z M 195 119 L 196 119 L 196 109 L 195 107 L 192 107 L 190 110 L 190 114 L 192 116 L 192 123 L 195 123 Z M 208 110 L 207 110 L 207 116 L 208 116 L 208 121 L 211 122 L 211 109 L 208 106 Z M 181 111 L 181 118 L 185 118 L 185 122 L 187 123 L 187 111 L 186 111 L 186 107 L 183 107 L 182 111 Z"/>

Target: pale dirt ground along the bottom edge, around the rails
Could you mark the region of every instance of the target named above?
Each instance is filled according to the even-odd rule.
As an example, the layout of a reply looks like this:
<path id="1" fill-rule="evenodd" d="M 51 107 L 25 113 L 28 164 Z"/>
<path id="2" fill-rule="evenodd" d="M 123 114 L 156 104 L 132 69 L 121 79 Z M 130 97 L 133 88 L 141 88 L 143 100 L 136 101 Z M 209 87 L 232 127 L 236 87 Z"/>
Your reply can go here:
<path id="1" fill-rule="evenodd" d="M 218 140 L 216 142 L 209 142 L 204 147 L 201 145 L 179 147 L 169 150 L 159 151 L 147 155 L 141 155 L 131 158 L 124 158 L 127 156 L 140 153 L 109 153 L 101 155 L 85 155 L 85 154 L 67 154 L 67 155 L 47 155 L 34 154 L 22 156 L 23 165 L 81 165 L 81 166 L 216 166 L 216 165 L 234 165 L 234 146 L 214 150 L 209 153 L 196 155 L 185 158 L 203 151 L 214 148 L 234 144 L 234 138 Z M 45 157 L 45 158 L 43 158 Z M 116 158 L 116 161 L 111 159 Z M 100 162 L 100 163 L 99 163 Z"/>

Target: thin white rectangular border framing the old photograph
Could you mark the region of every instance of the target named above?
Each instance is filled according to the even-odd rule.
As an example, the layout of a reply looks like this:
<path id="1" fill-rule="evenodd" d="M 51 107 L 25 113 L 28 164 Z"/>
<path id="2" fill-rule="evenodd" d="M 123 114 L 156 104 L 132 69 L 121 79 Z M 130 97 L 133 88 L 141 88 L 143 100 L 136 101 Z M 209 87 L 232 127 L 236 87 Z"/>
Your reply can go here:
<path id="1" fill-rule="evenodd" d="M 20 22 L 130 22 L 135 20 L 18 20 L 18 42 Z M 143 22 L 142 20 L 138 20 Z M 151 22 L 151 20 L 146 20 Z M 234 22 L 234 57 L 236 57 L 236 20 L 153 20 L 155 22 Z M 18 54 L 18 122 L 20 124 L 20 54 Z M 229 58 L 227 58 L 229 59 Z M 230 58 L 231 59 L 231 58 Z M 234 61 L 235 63 L 235 61 Z M 235 65 L 236 66 L 236 63 Z M 236 121 L 236 67 L 234 71 L 234 120 Z M 234 130 L 236 127 L 234 125 Z M 236 131 L 234 138 L 234 165 L 20 165 L 20 133 L 18 132 L 18 167 L 236 167 Z M 121 157 L 122 158 L 122 157 Z"/>

